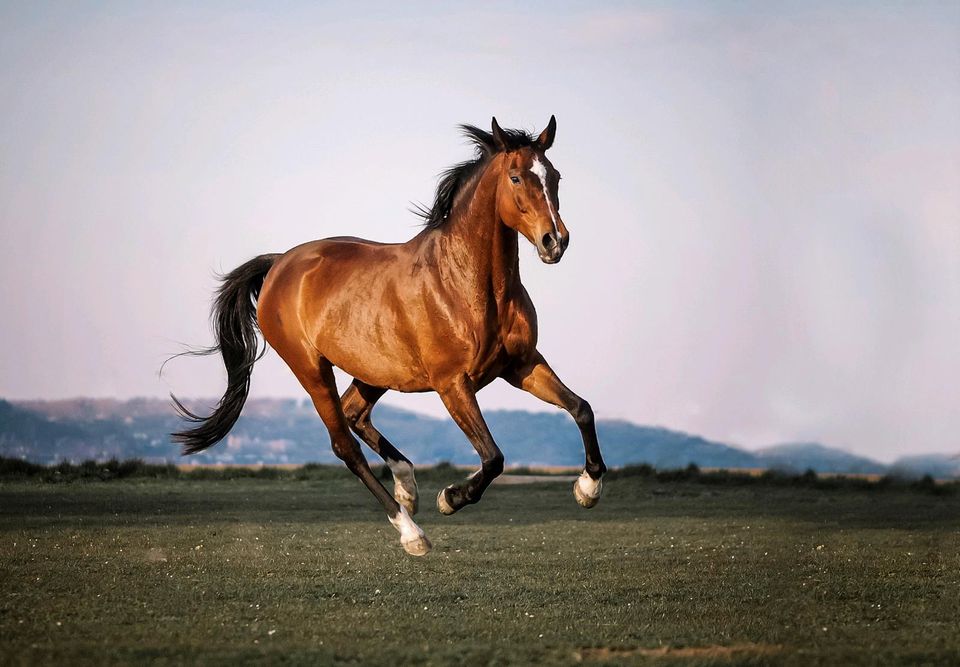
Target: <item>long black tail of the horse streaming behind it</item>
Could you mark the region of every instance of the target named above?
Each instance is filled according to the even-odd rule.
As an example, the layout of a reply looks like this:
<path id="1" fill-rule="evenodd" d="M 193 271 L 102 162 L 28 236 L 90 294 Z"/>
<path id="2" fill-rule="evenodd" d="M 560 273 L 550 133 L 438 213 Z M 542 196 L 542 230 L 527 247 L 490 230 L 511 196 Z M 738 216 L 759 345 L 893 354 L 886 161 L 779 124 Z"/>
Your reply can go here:
<path id="1" fill-rule="evenodd" d="M 213 328 L 216 345 L 187 354 L 223 355 L 227 369 L 227 391 L 209 417 L 194 414 L 176 396 L 170 395 L 177 412 L 193 428 L 171 434 L 183 445 L 184 454 L 194 454 L 223 440 L 240 417 L 250 393 L 253 364 L 267 351 L 258 352 L 257 297 L 270 267 L 280 255 L 260 255 L 242 264 L 223 277 L 213 305 Z"/>

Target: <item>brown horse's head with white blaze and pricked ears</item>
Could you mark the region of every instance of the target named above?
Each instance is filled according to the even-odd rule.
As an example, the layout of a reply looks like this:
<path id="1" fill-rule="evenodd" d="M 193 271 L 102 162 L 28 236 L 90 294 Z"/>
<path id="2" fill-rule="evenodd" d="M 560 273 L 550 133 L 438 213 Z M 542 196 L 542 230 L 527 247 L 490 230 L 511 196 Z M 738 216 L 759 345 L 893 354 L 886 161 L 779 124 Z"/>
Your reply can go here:
<path id="1" fill-rule="evenodd" d="M 547 129 L 532 145 L 511 149 L 509 137 L 493 119 L 493 141 L 503 152 L 497 215 L 523 234 L 547 264 L 559 262 L 570 242 L 570 233 L 560 219 L 560 172 L 546 156 L 556 133 L 557 119 L 550 116 Z"/>

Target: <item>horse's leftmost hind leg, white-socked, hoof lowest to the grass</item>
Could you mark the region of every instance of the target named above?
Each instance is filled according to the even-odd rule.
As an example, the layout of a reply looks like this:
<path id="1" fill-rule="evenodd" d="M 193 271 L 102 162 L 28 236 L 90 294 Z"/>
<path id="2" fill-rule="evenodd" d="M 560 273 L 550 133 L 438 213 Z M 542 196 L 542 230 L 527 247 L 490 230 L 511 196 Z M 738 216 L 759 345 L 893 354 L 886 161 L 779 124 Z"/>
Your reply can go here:
<path id="1" fill-rule="evenodd" d="M 296 371 L 295 371 L 296 372 Z M 423 556 L 430 551 L 430 540 L 427 539 L 420 527 L 410 518 L 407 508 L 399 505 L 380 480 L 377 479 L 367 459 L 360 451 L 358 443 L 350 433 L 347 420 L 343 414 L 340 397 L 337 395 L 337 383 L 333 377 L 333 367 L 325 359 L 320 360 L 319 368 L 315 373 L 297 373 L 297 378 L 313 399 L 320 418 L 330 432 L 330 444 L 337 455 L 354 475 L 360 478 L 370 492 L 376 496 L 380 504 L 387 511 L 390 523 L 400 531 L 400 544 L 407 553 L 414 556 Z"/>

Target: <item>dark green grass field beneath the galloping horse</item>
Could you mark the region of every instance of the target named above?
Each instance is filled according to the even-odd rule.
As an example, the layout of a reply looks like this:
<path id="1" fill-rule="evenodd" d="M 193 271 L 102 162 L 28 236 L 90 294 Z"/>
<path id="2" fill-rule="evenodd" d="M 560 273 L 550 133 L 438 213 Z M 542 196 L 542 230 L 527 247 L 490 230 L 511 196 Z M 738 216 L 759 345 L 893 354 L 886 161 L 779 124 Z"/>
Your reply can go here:
<path id="1" fill-rule="evenodd" d="M 960 663 L 960 494 L 421 478 L 2 482 L 0 662 Z"/>

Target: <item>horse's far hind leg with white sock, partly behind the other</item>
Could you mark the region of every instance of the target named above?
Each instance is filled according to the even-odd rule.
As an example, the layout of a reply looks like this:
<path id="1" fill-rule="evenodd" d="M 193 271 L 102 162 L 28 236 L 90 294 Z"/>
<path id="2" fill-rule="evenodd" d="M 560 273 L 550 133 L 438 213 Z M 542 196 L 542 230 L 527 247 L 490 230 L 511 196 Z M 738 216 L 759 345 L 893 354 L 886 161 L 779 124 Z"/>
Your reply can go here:
<path id="1" fill-rule="evenodd" d="M 386 391 L 382 387 L 372 387 L 360 380 L 354 380 L 340 397 L 340 402 L 343 404 L 343 414 L 347 418 L 347 424 L 370 449 L 380 455 L 393 473 L 394 499 L 406 507 L 410 514 L 416 514 L 419 496 L 417 480 L 413 475 L 413 464 L 383 437 L 383 434 L 370 421 L 373 406 Z"/>

